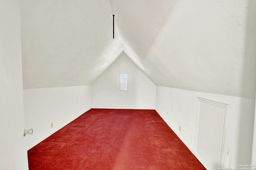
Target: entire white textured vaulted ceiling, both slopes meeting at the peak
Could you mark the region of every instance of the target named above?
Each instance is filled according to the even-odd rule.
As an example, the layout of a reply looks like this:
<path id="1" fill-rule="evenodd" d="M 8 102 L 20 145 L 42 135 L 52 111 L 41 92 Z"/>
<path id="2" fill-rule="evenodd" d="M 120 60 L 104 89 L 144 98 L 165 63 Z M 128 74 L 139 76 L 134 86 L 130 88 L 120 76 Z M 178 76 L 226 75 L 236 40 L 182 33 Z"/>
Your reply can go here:
<path id="1" fill-rule="evenodd" d="M 255 98 L 255 0 L 20 0 L 20 7 L 24 89 L 91 85 L 125 52 L 157 86 Z"/>

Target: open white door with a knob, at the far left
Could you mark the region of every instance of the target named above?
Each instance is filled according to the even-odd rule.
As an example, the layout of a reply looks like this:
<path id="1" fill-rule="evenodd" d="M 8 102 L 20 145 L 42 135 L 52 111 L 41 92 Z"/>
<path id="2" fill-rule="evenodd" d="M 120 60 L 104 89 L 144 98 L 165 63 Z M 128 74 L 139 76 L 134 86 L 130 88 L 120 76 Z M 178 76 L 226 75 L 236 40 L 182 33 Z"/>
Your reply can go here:
<path id="1" fill-rule="evenodd" d="M 28 170 L 17 0 L 0 1 L 0 169 Z"/>

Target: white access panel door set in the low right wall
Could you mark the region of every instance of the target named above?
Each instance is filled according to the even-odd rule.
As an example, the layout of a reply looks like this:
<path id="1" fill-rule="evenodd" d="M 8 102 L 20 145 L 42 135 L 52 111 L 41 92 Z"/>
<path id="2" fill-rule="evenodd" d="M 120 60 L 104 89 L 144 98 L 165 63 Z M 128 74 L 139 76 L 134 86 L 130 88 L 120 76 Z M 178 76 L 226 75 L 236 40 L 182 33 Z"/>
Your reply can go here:
<path id="1" fill-rule="evenodd" d="M 198 98 L 198 120 L 194 152 L 207 166 L 216 170 L 223 165 L 227 105 Z"/>

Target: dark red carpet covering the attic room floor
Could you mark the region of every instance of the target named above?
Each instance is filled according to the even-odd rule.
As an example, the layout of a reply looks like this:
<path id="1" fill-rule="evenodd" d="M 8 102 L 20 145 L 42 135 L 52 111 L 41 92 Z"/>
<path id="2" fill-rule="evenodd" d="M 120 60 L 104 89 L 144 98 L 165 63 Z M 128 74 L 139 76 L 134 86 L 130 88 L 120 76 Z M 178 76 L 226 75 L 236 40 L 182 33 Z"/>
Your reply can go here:
<path id="1" fill-rule="evenodd" d="M 154 110 L 90 109 L 32 149 L 30 170 L 205 170 Z"/>

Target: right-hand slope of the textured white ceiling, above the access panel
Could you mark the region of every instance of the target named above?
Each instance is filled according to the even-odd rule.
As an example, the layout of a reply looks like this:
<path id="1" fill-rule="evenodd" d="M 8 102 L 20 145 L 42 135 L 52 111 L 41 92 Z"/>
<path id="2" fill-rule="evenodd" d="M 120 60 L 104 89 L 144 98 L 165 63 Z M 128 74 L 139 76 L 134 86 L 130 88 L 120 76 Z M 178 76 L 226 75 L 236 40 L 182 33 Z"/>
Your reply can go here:
<path id="1" fill-rule="evenodd" d="M 157 86 L 255 98 L 255 0 L 111 0 L 126 52 Z"/>

